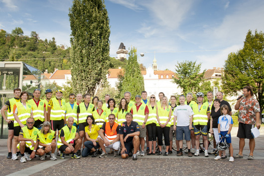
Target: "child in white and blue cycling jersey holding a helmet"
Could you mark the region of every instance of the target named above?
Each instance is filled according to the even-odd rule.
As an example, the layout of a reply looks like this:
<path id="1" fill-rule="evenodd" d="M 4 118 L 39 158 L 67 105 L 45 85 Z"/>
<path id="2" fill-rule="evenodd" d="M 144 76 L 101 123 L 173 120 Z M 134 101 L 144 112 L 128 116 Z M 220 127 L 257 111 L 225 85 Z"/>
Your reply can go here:
<path id="1" fill-rule="evenodd" d="M 233 119 L 229 114 L 229 108 L 227 105 L 223 105 L 221 107 L 221 114 L 218 118 L 218 133 L 219 133 L 219 138 L 220 142 L 225 142 L 230 146 L 229 147 L 229 152 L 230 152 L 230 158 L 229 162 L 234 162 L 234 157 L 233 157 L 233 146 L 231 144 L 231 129 L 233 125 Z M 225 137 L 225 138 L 224 138 Z M 220 160 L 222 156 L 222 151 L 219 151 L 219 155 L 214 159 L 214 160 Z"/>

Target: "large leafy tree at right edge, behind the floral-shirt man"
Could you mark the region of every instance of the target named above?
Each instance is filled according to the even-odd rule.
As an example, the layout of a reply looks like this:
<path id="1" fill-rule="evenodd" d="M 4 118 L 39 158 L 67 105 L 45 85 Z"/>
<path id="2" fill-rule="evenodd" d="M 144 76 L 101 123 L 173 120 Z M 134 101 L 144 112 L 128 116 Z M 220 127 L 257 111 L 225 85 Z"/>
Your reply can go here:
<path id="1" fill-rule="evenodd" d="M 264 33 L 248 31 L 244 47 L 228 55 L 224 66 L 223 89 L 228 95 L 237 94 L 244 86 L 251 86 L 264 108 Z"/>

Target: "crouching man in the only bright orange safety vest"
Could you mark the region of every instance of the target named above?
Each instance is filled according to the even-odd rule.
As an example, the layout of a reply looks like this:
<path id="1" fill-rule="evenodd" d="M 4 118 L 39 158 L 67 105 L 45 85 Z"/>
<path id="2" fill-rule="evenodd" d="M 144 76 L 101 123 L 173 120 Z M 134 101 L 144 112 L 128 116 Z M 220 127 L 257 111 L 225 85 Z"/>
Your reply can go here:
<path id="1" fill-rule="evenodd" d="M 103 153 L 99 158 L 107 157 L 106 147 L 114 149 L 114 157 L 118 156 L 118 150 L 120 147 L 120 138 L 119 138 L 119 128 L 120 125 L 115 122 L 115 114 L 109 114 L 109 122 L 105 122 L 102 128 L 98 131 L 100 137 L 98 138 L 98 143 L 103 150 Z M 105 135 L 104 135 L 105 133 Z"/>

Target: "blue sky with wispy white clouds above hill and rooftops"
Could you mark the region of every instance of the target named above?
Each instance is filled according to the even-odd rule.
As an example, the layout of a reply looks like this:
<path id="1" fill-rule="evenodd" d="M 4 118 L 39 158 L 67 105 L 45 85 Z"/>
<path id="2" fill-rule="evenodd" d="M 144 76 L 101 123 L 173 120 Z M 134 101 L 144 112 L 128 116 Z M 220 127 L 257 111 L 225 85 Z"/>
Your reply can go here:
<path id="1" fill-rule="evenodd" d="M 174 71 L 177 61 L 197 61 L 202 69 L 223 67 L 228 54 L 243 47 L 249 29 L 264 31 L 264 0 L 105 0 L 111 26 L 110 55 L 121 42 L 137 48 L 140 63 Z M 0 29 L 70 46 L 72 0 L 0 0 Z"/>

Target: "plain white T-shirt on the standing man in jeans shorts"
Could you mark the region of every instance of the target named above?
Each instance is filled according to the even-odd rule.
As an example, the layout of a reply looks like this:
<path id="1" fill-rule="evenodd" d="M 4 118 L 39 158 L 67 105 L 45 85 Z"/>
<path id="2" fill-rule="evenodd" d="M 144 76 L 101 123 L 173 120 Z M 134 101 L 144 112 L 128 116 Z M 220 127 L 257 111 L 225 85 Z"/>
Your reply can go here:
<path id="1" fill-rule="evenodd" d="M 190 125 L 190 116 L 194 113 L 189 105 L 180 105 L 174 109 L 173 115 L 177 116 L 177 126 L 185 127 Z"/>

